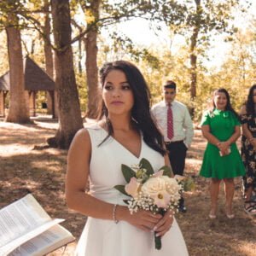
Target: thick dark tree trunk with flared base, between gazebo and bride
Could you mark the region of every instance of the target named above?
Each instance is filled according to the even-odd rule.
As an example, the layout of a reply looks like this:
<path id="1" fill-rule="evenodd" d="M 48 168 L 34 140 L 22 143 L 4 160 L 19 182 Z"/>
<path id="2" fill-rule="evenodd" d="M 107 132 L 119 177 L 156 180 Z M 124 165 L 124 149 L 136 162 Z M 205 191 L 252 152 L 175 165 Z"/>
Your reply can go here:
<path id="1" fill-rule="evenodd" d="M 58 93 L 59 129 L 50 146 L 68 148 L 73 136 L 83 127 L 79 93 L 73 70 L 71 48 L 70 9 L 68 0 L 52 0 L 53 31 L 55 38 L 55 84 Z"/>

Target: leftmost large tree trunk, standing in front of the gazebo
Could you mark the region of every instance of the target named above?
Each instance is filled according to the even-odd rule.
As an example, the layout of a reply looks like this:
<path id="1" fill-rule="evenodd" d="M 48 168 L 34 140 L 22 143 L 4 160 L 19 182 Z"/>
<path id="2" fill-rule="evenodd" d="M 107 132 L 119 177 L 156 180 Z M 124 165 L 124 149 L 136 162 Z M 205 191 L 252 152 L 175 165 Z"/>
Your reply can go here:
<path id="1" fill-rule="evenodd" d="M 10 102 L 6 121 L 13 123 L 29 123 L 28 92 L 25 90 L 23 58 L 18 18 L 9 14 L 9 25 L 6 26 L 9 55 Z"/>

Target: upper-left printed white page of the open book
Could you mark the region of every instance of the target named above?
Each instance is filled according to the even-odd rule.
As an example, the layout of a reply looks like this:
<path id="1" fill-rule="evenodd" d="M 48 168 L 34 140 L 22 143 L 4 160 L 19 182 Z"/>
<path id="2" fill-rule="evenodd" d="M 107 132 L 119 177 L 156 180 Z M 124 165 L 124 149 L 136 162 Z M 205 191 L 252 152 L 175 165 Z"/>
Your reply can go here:
<path id="1" fill-rule="evenodd" d="M 31 194 L 3 207 L 0 210 L 0 248 L 49 220 L 49 215 Z"/>

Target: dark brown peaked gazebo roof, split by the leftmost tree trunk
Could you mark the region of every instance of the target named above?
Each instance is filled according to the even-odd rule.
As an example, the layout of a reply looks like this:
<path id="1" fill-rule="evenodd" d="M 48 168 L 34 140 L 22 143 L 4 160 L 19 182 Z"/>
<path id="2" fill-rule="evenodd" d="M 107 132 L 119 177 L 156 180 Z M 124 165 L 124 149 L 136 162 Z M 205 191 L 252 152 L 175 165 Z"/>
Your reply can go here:
<path id="1" fill-rule="evenodd" d="M 26 56 L 25 90 L 55 90 L 55 82 L 44 70 Z M 0 90 L 9 90 L 9 71 L 0 77 Z"/>

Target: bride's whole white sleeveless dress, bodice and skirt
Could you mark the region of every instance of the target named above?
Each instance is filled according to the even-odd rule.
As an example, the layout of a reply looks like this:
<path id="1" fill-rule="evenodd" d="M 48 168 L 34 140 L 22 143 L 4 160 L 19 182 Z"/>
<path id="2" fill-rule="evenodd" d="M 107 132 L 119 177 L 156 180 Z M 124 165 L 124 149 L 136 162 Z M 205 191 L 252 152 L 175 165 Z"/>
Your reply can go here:
<path id="1" fill-rule="evenodd" d="M 121 165 L 138 164 L 142 158 L 150 161 L 154 170 L 165 165 L 164 158 L 143 142 L 139 158 L 131 154 L 113 137 L 100 147 L 102 140 L 108 135 L 99 125 L 87 128 L 90 133 L 90 193 L 102 201 L 125 205 L 125 195 L 113 189 L 113 186 L 125 184 Z M 90 207 L 90 206 L 88 206 Z M 172 228 L 161 238 L 160 250 L 154 248 L 154 233 L 145 232 L 135 226 L 119 221 L 99 218 L 87 219 L 83 233 L 79 239 L 76 255 L 79 256 L 186 256 L 189 255 L 183 235 L 174 219 Z"/>

